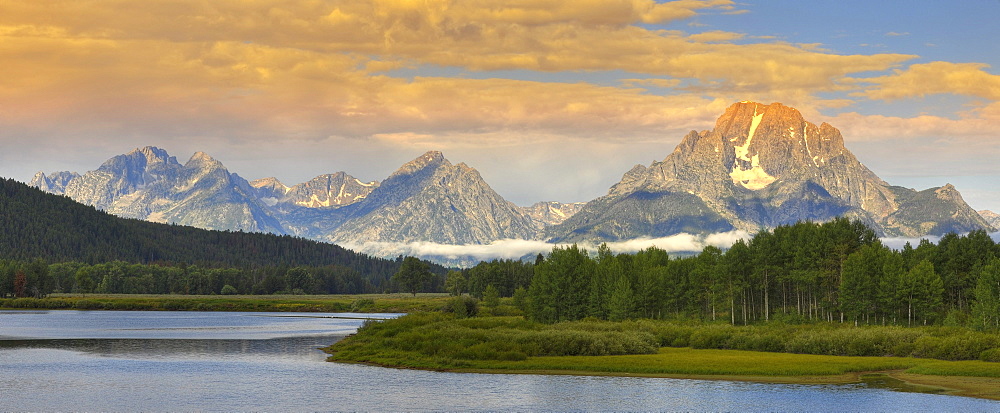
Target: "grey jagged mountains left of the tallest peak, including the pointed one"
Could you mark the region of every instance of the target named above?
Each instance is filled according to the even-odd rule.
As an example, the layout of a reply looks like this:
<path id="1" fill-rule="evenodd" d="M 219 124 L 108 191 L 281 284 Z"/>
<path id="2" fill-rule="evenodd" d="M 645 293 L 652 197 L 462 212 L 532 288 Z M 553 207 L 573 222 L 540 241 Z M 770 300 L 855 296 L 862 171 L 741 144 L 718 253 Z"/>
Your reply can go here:
<path id="1" fill-rule="evenodd" d="M 181 165 L 166 151 L 145 147 L 83 175 L 39 172 L 30 185 L 122 217 L 351 245 L 483 244 L 538 232 L 478 171 L 452 165 L 440 152 L 418 157 L 381 183 L 338 172 L 289 187 L 276 178 L 247 182 L 201 152 Z M 552 207 L 553 214 L 571 210 Z"/>

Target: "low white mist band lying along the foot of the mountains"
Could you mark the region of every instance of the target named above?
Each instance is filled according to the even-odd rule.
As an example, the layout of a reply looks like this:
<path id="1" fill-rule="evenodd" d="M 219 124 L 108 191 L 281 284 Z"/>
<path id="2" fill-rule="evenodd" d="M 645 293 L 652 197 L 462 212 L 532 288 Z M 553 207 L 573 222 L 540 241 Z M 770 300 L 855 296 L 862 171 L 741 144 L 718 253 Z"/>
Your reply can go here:
<path id="1" fill-rule="evenodd" d="M 749 239 L 745 231 L 732 231 L 719 234 L 693 235 L 677 234 L 664 238 L 639 238 L 627 241 L 608 242 L 608 248 L 614 253 L 634 253 L 657 247 L 667 252 L 698 252 L 706 246 L 729 248 L 739 239 Z M 598 244 L 577 244 L 582 249 L 596 252 Z M 489 261 L 493 259 L 520 259 L 525 256 L 546 254 L 555 247 L 566 247 L 569 244 L 551 244 L 544 241 L 506 239 L 481 245 L 447 245 L 433 242 L 365 242 L 360 244 L 344 244 L 345 248 L 361 251 L 383 257 L 397 255 L 413 255 L 418 257 L 442 257 L 447 260 L 463 260 L 463 262 Z M 470 260 L 471 259 L 471 260 Z"/>

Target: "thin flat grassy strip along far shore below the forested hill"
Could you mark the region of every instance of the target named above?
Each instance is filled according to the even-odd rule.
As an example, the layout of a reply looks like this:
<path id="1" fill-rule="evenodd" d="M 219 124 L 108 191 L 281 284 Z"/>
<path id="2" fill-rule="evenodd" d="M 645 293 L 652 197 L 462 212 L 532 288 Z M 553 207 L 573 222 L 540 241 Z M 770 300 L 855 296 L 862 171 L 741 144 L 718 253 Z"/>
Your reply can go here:
<path id="1" fill-rule="evenodd" d="M 410 313 L 436 311 L 444 294 L 364 295 L 130 295 L 53 294 L 47 298 L 0 299 L 3 309 L 132 311 L 276 311 Z"/>

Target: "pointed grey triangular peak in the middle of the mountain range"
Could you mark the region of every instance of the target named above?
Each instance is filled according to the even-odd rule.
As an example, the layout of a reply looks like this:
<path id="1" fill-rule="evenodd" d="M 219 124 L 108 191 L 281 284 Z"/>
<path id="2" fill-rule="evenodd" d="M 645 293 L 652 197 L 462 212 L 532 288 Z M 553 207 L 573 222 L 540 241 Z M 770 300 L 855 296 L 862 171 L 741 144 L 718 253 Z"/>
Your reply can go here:
<path id="1" fill-rule="evenodd" d="M 340 208 L 338 243 L 431 241 L 483 244 L 536 234 L 531 219 L 464 163 L 427 152 L 382 181 L 363 201 Z"/>

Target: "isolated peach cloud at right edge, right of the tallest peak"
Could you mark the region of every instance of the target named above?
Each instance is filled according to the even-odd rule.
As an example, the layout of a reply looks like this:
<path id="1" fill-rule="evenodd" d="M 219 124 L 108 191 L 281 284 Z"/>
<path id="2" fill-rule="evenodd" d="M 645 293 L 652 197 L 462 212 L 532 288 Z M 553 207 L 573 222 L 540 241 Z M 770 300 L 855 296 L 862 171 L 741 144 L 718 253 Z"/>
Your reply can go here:
<path id="1" fill-rule="evenodd" d="M 858 93 L 876 100 L 896 100 L 935 94 L 967 95 L 1000 100 L 1000 76 L 982 63 L 931 62 L 914 64 L 888 76 L 853 79 L 874 84 Z"/>

